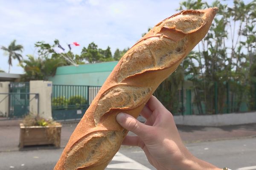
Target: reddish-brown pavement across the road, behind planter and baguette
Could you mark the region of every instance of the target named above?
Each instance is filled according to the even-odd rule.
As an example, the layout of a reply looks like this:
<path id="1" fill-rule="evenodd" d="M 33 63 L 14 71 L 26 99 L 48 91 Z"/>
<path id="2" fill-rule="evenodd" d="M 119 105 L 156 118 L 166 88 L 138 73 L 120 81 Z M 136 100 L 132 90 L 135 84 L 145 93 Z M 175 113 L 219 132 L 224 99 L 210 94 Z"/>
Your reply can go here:
<path id="1" fill-rule="evenodd" d="M 8 122 L 9 121 L 9 122 Z M 16 121 L 16 122 L 15 122 Z M 19 120 L 0 120 L 0 152 L 19 150 Z M 78 122 L 63 122 L 61 129 L 61 147 L 65 147 Z M 218 141 L 256 137 L 256 123 L 220 127 L 177 125 L 184 143 Z M 128 134 L 134 135 L 131 132 Z M 44 146 L 45 147 L 45 146 Z M 41 149 L 28 147 L 27 149 Z M 50 147 L 47 147 L 50 148 Z M 25 148 L 26 149 L 26 148 Z"/>

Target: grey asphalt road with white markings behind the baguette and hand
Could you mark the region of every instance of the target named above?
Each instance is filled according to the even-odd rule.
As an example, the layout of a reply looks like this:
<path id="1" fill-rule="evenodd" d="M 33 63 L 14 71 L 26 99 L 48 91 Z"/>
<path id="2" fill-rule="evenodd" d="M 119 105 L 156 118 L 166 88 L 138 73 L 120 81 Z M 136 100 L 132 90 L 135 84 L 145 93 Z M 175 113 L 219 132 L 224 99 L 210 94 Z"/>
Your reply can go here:
<path id="1" fill-rule="evenodd" d="M 256 170 L 256 138 L 186 144 L 198 158 L 232 170 Z M 61 149 L 0 153 L 0 170 L 52 170 Z M 106 170 L 155 170 L 138 147 L 121 147 Z"/>

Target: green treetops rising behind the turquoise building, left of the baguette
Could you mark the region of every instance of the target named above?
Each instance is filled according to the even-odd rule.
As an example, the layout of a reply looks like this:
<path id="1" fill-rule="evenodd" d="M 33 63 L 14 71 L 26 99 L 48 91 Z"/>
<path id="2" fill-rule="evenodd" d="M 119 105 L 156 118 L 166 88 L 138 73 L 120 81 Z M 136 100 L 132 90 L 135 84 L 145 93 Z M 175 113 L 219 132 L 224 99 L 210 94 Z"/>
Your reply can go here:
<path id="1" fill-rule="evenodd" d="M 25 74 L 22 76 L 22 80 L 47 80 L 50 76 L 55 75 L 56 69 L 59 66 L 71 65 L 71 63 L 66 59 L 67 57 L 75 61 L 77 64 L 107 62 L 119 60 L 127 51 L 125 48 L 119 52 L 118 56 L 116 55 L 116 57 L 113 58 L 111 48 L 109 46 L 107 49 L 103 50 L 98 48 L 98 45 L 94 42 L 91 42 L 87 48 L 84 47 L 82 49 L 81 55 L 74 55 L 72 51 L 58 54 L 54 50 L 58 45 L 58 40 L 55 40 L 52 45 L 44 41 L 36 42 L 35 48 L 37 49 L 38 57 L 27 55 L 28 58 L 24 59 L 20 64 L 25 71 Z"/>

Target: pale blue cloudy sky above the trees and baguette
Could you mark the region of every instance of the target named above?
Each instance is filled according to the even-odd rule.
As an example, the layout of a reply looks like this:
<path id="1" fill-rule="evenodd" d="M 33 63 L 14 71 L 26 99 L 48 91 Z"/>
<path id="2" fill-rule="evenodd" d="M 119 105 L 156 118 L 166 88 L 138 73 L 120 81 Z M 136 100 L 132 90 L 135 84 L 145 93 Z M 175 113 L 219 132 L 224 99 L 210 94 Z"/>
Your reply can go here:
<path id="1" fill-rule="evenodd" d="M 180 0 L 0 0 L 0 45 L 12 40 L 24 46 L 23 56 L 36 56 L 37 41 L 95 42 L 99 48 L 131 47 L 148 27 L 176 13 Z M 227 2 L 227 1 L 226 1 Z M 0 69 L 8 72 L 8 57 L 0 51 Z M 11 73 L 23 73 L 13 61 Z"/>

